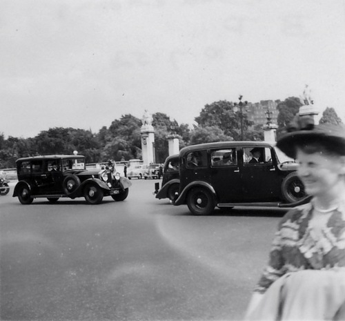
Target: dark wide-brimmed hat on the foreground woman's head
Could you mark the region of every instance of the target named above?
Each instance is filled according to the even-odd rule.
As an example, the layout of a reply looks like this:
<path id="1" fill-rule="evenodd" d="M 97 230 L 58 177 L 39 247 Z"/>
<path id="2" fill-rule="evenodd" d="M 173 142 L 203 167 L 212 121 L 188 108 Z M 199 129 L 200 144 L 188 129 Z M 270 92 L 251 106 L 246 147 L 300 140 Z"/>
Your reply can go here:
<path id="1" fill-rule="evenodd" d="M 328 150 L 345 155 L 345 126 L 343 124 L 315 125 L 312 117 L 297 116 L 286 128 L 287 133 L 277 141 L 277 147 L 288 157 L 296 157 L 296 146 L 311 142 L 324 144 Z"/>

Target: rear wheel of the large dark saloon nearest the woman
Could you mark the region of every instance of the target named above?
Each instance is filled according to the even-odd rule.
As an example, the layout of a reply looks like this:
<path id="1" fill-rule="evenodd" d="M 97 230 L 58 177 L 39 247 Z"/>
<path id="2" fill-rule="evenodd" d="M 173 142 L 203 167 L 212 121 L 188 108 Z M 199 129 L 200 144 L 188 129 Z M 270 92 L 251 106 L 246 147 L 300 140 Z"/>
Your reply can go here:
<path id="1" fill-rule="evenodd" d="M 187 205 L 194 215 L 210 215 L 215 209 L 215 200 L 210 191 L 198 187 L 188 193 Z"/>

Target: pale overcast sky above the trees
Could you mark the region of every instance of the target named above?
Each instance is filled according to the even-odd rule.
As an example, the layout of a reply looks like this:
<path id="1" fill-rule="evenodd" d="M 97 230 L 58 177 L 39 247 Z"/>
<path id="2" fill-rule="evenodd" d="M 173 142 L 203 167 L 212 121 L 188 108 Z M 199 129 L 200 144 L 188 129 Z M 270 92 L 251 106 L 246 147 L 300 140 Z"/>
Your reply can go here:
<path id="1" fill-rule="evenodd" d="M 311 88 L 345 115 L 345 0 L 0 0 L 0 133 Z"/>

